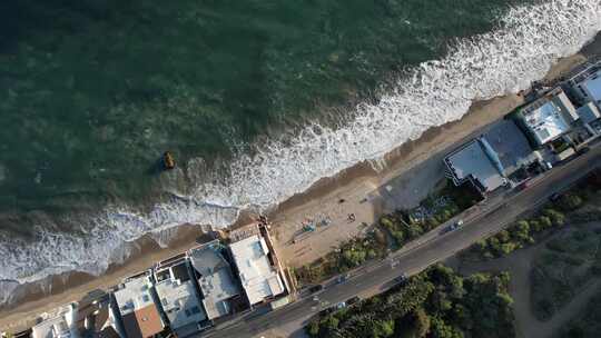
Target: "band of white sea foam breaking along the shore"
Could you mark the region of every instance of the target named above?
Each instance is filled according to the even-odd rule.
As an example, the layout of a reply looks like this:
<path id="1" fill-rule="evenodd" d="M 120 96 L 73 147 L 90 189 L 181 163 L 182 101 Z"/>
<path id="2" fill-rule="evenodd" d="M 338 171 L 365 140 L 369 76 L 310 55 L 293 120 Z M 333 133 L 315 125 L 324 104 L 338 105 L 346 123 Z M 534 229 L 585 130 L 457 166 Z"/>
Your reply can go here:
<path id="1" fill-rule="evenodd" d="M 558 0 L 513 8 L 494 32 L 460 41 L 447 57 L 424 62 L 376 105 L 358 105 L 338 128 L 306 127 L 239 156 L 225 181 L 199 183 L 191 196 L 155 206 L 149 213 L 108 208 L 85 236 L 41 230 L 35 242 L 0 238 L 0 279 L 19 282 L 78 270 L 100 274 L 128 256 L 128 242 L 180 223 L 226 227 L 240 209 L 267 208 L 304 191 L 322 177 L 418 138 L 433 126 L 460 119 L 473 100 L 525 89 L 560 57 L 575 53 L 601 30 L 598 0 Z M 190 168 L 194 168 L 191 166 Z"/>

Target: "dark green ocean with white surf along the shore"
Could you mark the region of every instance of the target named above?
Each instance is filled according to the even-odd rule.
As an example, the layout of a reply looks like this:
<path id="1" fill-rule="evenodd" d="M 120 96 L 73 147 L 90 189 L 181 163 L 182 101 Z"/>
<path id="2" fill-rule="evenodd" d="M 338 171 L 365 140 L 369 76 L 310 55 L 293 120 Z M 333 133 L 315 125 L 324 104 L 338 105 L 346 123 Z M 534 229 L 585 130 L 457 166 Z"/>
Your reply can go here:
<path id="1" fill-rule="evenodd" d="M 227 227 L 526 88 L 600 30 L 597 0 L 3 2 L 0 280 Z M 165 150 L 178 168 L 159 172 Z"/>

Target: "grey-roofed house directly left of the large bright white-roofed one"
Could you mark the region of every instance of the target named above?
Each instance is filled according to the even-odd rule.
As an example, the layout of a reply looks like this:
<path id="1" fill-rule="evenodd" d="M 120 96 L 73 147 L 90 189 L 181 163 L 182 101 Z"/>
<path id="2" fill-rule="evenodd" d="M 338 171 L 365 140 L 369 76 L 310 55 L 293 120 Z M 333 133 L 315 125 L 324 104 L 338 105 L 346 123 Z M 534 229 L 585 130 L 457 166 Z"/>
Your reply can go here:
<path id="1" fill-rule="evenodd" d="M 207 318 L 216 320 L 234 312 L 242 290 L 218 239 L 190 249 L 188 259 L 200 288 Z"/>

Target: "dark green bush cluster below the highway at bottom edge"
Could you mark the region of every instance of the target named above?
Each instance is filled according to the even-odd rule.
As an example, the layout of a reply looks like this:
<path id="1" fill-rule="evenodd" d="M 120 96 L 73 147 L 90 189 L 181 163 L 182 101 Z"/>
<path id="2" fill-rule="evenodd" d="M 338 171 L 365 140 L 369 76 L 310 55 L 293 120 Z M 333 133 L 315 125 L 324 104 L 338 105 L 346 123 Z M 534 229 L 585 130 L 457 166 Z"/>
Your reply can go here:
<path id="1" fill-rule="evenodd" d="M 351 308 L 318 316 L 311 337 L 514 337 L 509 275 L 467 278 L 436 265 L 407 284 Z"/>

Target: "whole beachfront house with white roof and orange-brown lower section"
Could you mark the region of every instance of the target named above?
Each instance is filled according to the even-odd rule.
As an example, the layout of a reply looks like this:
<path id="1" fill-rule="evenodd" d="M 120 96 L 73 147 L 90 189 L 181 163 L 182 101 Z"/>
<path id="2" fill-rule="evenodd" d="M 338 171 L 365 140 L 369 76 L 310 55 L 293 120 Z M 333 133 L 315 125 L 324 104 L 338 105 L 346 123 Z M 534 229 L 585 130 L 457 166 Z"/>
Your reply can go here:
<path id="1" fill-rule="evenodd" d="M 165 330 L 165 321 L 155 302 L 150 271 L 125 279 L 112 292 L 112 297 L 111 310 L 118 318 L 119 336 L 148 338 Z"/>

